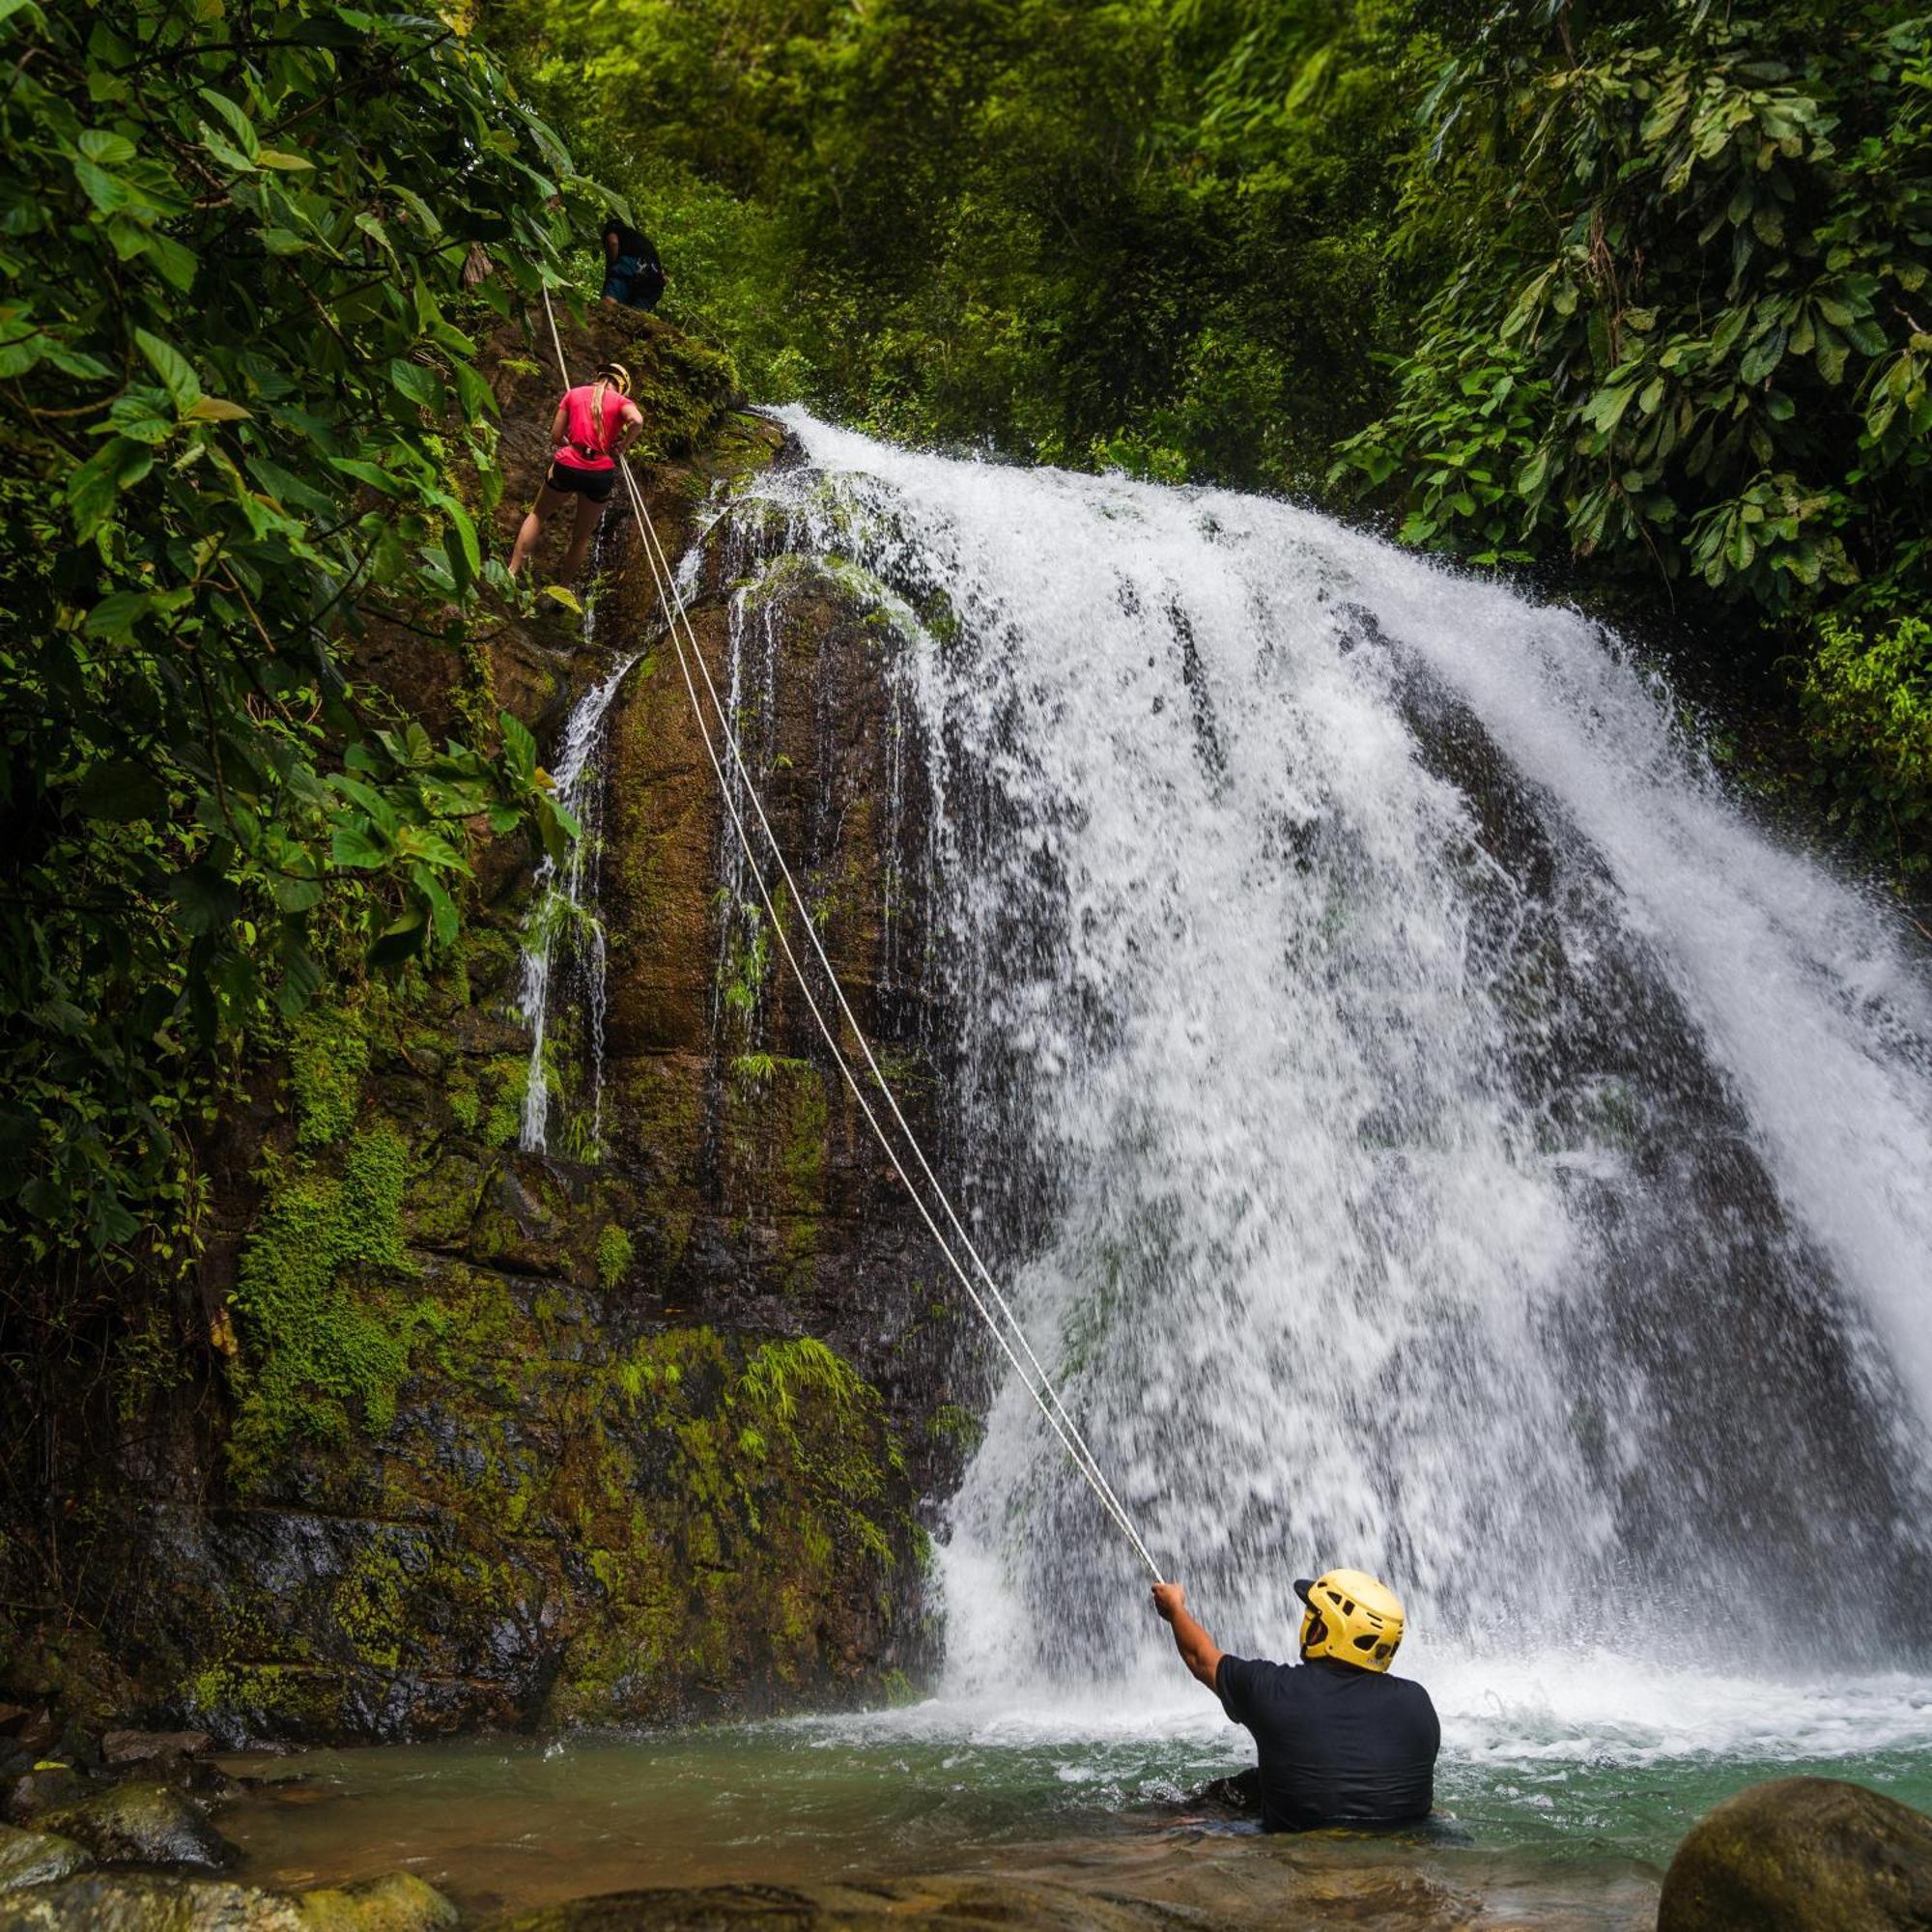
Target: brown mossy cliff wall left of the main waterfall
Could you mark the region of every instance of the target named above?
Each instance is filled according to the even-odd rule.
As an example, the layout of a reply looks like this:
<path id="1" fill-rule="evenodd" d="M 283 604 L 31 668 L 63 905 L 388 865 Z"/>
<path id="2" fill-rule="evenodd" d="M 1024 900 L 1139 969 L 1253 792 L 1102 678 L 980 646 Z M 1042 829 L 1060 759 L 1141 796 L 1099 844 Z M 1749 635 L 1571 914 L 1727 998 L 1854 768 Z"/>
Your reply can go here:
<path id="1" fill-rule="evenodd" d="M 655 321 L 597 313 L 568 354 L 636 373 L 672 556 L 786 460 L 728 367 Z M 556 381 L 504 330 L 495 383 L 508 541 Z M 560 1014 L 551 1146 L 572 1157 L 516 1148 L 531 862 L 498 842 L 456 954 L 346 980 L 214 1136 L 184 1352 L 83 1405 L 56 1470 L 64 1602 L 43 1605 L 64 1623 L 19 1619 L 17 1690 L 228 1739 L 379 1739 L 757 1712 L 920 1671 L 922 1499 L 956 1474 L 935 1416 L 964 1335 L 794 991 L 726 941 L 721 806 L 620 510 L 595 570 L 591 626 L 558 605 L 468 655 L 367 651 L 433 732 L 504 705 L 545 752 L 641 653 L 593 856 L 601 1136 L 570 1132 L 582 1028 Z M 721 680 L 732 591 L 707 554 L 692 616 Z M 887 655 L 831 583 L 781 628 L 773 821 L 918 1103 L 935 1020 L 879 974 Z"/>

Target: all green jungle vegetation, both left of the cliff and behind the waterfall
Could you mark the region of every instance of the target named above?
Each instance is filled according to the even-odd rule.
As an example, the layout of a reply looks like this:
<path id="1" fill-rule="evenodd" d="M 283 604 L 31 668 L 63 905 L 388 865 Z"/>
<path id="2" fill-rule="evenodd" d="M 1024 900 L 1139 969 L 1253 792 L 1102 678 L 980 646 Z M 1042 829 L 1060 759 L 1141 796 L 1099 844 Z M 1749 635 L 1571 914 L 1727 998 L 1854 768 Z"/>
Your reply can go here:
<path id="1" fill-rule="evenodd" d="M 1785 667 L 1833 811 L 1928 866 L 1932 23 L 1903 0 L 535 0 L 468 29 L 0 0 L 27 1264 L 191 1252 L 224 1084 L 325 978 L 452 943 L 475 825 L 568 831 L 475 632 L 477 330 L 564 251 L 595 278 L 564 141 L 761 394 L 1671 605 Z M 454 653 L 456 738 L 369 676 L 384 628 Z"/>

